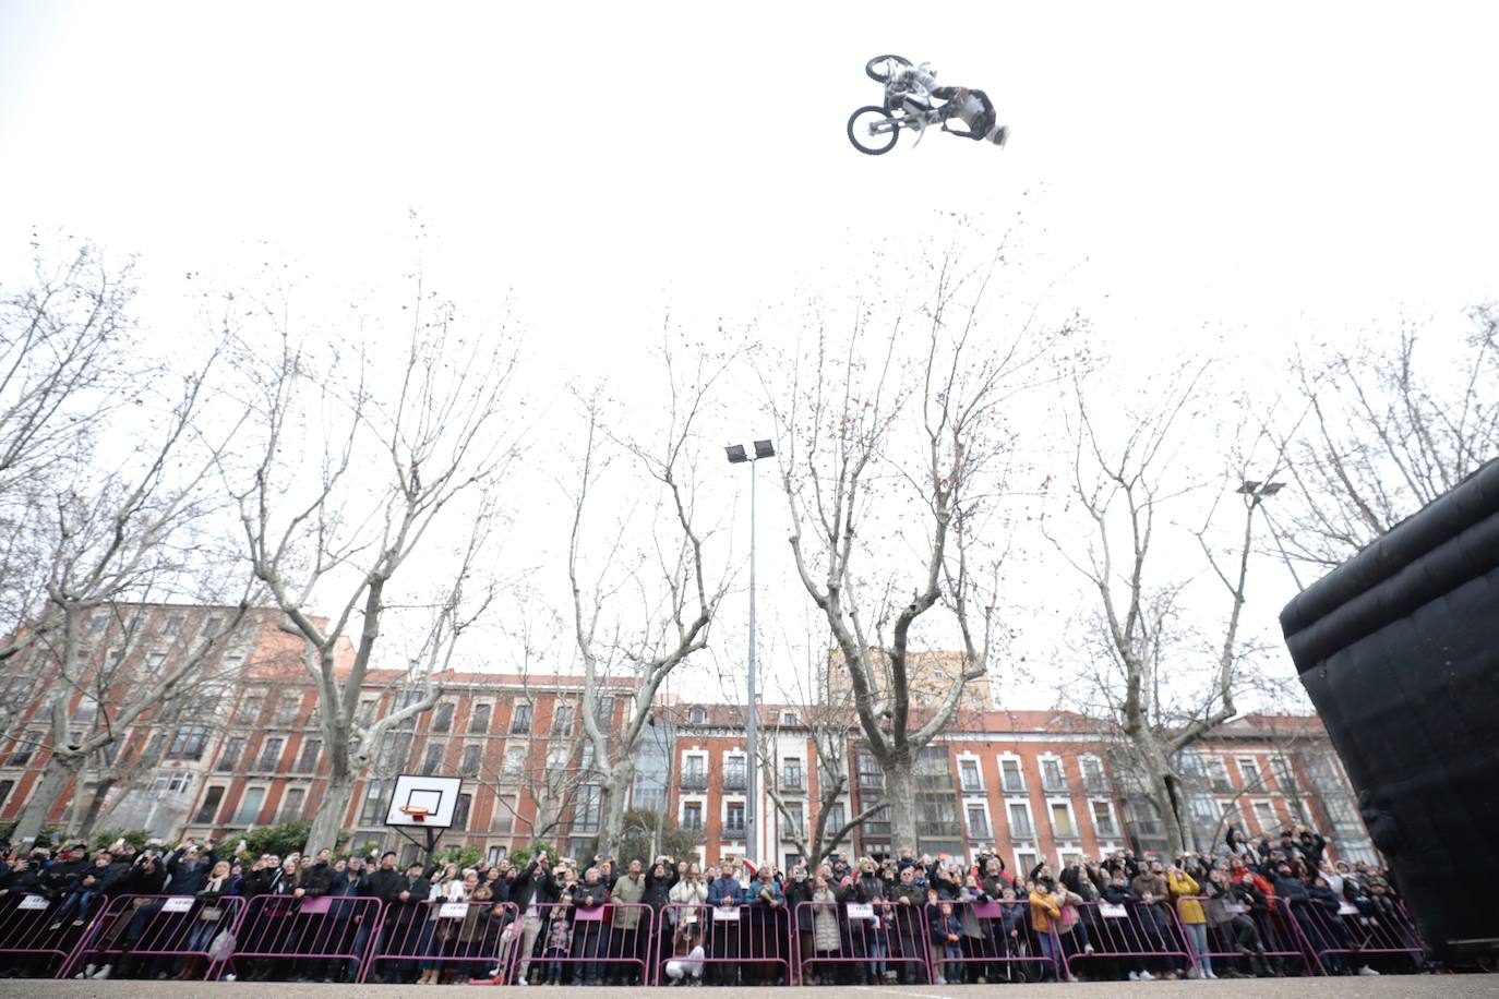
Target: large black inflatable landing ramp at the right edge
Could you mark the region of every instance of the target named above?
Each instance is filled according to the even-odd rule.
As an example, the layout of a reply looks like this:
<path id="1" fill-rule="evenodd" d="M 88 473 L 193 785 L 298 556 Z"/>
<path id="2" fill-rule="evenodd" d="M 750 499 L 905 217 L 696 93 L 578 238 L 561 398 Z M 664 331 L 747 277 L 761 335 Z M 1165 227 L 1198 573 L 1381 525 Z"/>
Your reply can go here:
<path id="1" fill-rule="evenodd" d="M 1499 947 L 1499 460 L 1280 613 L 1433 951 Z"/>

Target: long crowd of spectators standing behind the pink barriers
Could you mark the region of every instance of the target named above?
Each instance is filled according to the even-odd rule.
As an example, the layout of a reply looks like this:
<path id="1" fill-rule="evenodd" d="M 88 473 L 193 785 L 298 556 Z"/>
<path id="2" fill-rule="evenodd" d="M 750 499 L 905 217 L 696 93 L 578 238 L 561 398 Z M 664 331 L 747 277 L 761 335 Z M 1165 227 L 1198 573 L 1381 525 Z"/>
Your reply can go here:
<path id="1" fill-rule="evenodd" d="M 213 840 L 142 849 L 120 840 L 93 854 L 64 843 L 3 855 L 0 933 L 21 926 L 9 917 L 22 899 L 40 897 L 45 914 L 28 914 L 27 926 L 45 921 L 58 938 L 108 935 L 100 953 L 117 957 L 78 968 L 79 978 L 201 978 L 208 957 L 135 950 L 163 896 L 193 903 L 171 950 L 213 960 L 235 945 L 256 954 L 225 965 L 226 978 L 354 981 L 361 965 L 346 954 L 366 953 L 378 932 L 372 953 L 384 957 L 372 965 L 372 981 L 493 981 L 505 971 L 501 954 L 516 953 L 514 981 L 531 986 L 636 984 L 652 968 L 664 984 L 779 984 L 791 977 L 793 954 L 794 977 L 808 984 L 986 983 L 1015 980 L 1016 969 L 1028 980 L 1271 977 L 1297 974 L 1276 945 L 1295 936 L 1291 921 L 1313 951 L 1357 951 L 1346 921 L 1394 920 L 1399 906 L 1388 872 L 1331 861 L 1324 837 L 1307 828 L 1259 840 L 1231 828 L 1214 854 L 1126 849 L 1027 872 L 1010 872 L 997 855 L 965 863 L 911 851 L 878 860 L 835 854 L 787 872 L 742 860 L 553 861 L 546 852 L 523 866 L 402 866 L 394 852 L 246 857 Z M 93 918 L 111 899 L 130 896 L 154 899 L 114 920 Z M 232 939 L 225 915 L 229 900 L 262 896 L 262 915 L 273 905 L 330 899 L 339 908 L 319 912 L 342 923 L 316 947 L 283 935 L 280 953 L 267 957 L 252 941 Z M 459 918 L 439 920 L 444 903 L 463 903 Z M 1120 924 L 1109 917 L 1120 911 L 1132 914 L 1129 948 L 1112 945 Z M 46 974 L 43 957 L 6 947 L 0 941 L 0 971 Z M 916 960 L 923 951 L 929 965 Z M 1321 971 L 1379 974 L 1373 963 L 1331 953 Z"/>

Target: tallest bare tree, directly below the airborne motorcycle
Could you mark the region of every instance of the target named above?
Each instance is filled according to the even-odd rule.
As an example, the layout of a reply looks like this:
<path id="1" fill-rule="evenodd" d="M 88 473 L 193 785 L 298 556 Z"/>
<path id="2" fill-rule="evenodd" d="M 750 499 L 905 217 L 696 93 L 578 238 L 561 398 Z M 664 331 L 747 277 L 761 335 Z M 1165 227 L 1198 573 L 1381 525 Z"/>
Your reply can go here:
<path id="1" fill-rule="evenodd" d="M 1000 256 L 977 268 L 953 247 L 902 262 L 931 286 L 883 333 L 857 306 L 838 343 L 818 322 L 790 389 L 770 388 L 791 554 L 826 619 L 869 752 L 886 776 L 893 846 L 916 848 L 913 770 L 970 680 L 994 665 L 997 586 L 1007 544 L 1006 404 L 1051 377 L 1054 338 L 1034 316 L 991 321 Z M 913 328 L 916 327 L 916 328 Z M 784 380 L 784 379 L 778 379 Z M 929 614 L 943 620 L 934 622 Z M 959 668 L 929 707 L 913 702 L 917 628 L 946 634 Z"/>

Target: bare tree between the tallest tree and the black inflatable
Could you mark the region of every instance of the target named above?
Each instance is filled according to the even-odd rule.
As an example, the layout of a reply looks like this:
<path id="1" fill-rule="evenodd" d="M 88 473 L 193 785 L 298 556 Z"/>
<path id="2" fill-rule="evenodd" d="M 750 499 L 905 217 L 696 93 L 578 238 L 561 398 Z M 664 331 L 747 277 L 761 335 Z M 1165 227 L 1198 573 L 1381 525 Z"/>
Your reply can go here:
<path id="1" fill-rule="evenodd" d="M 1049 523 L 1057 550 L 1084 575 L 1099 598 L 1087 617 L 1097 638 L 1096 672 L 1085 711 L 1102 713 L 1121 731 L 1129 758 L 1117 768 L 1135 770 L 1154 804 L 1172 851 L 1186 848 L 1190 827 L 1180 758 L 1195 741 L 1237 714 L 1235 696 L 1244 683 L 1253 643 L 1241 635 L 1249 584 L 1255 514 L 1264 500 L 1262 481 L 1283 467 L 1276 454 L 1265 479 L 1250 472 L 1195 479 L 1183 445 L 1198 434 L 1195 404 L 1205 368 L 1187 370 L 1156 391 L 1142 412 L 1118 412 L 1099 403 L 1106 394 L 1073 379 L 1069 430 L 1072 469 L 1069 506 L 1084 524 Z M 1118 442 L 1115 443 L 1115 437 Z M 1235 482 L 1237 479 L 1237 482 Z M 1240 485 L 1238 491 L 1231 491 Z M 1160 527 L 1171 526 L 1171 508 L 1184 497 L 1213 499 L 1201 529 L 1190 532 L 1201 560 L 1192 572 L 1178 566 L 1181 553 Z M 1243 502 L 1235 535 L 1219 545 L 1214 523 L 1225 494 Z M 1075 538 L 1085 541 L 1075 541 Z M 1186 542 L 1184 538 L 1177 538 Z M 1189 592 L 1195 574 L 1207 572 L 1226 602 L 1219 629 L 1192 625 L 1207 614 Z"/>

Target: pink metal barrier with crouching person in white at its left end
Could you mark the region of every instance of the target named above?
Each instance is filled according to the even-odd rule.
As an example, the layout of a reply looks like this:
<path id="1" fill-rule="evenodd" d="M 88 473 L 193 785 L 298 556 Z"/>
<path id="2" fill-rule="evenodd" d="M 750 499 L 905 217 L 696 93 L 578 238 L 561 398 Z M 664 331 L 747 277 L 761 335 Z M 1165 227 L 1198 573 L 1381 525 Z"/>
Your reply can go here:
<path id="1" fill-rule="evenodd" d="M 672 933 L 670 944 L 657 959 L 654 981 L 664 984 L 667 965 L 691 953 L 702 942 L 705 981 L 733 984 L 793 984 L 791 920 L 785 906 L 763 903 L 721 906 L 669 905 L 658 923 Z"/>

